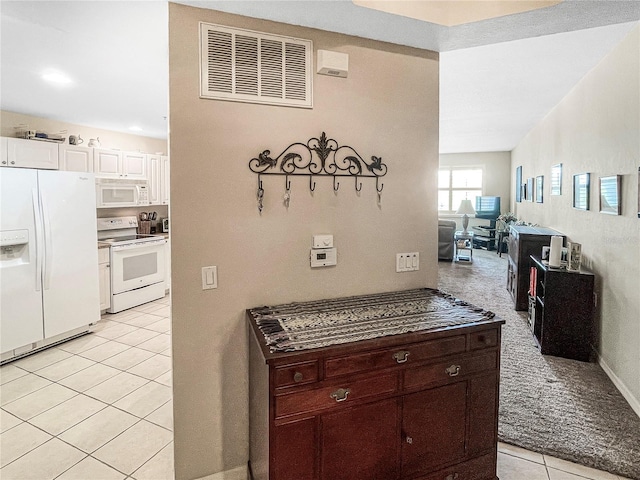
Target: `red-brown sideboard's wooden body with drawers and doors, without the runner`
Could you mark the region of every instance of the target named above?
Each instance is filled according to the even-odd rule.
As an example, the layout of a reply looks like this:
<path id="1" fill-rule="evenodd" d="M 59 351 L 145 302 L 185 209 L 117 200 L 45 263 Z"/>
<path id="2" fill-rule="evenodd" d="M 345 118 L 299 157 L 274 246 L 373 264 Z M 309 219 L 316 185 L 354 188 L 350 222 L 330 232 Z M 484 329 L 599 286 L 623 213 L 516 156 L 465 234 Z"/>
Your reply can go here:
<path id="1" fill-rule="evenodd" d="M 253 480 L 497 480 L 502 320 L 293 353 L 249 323 Z"/>

